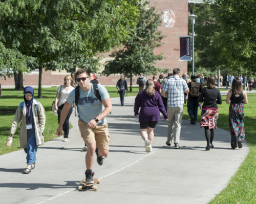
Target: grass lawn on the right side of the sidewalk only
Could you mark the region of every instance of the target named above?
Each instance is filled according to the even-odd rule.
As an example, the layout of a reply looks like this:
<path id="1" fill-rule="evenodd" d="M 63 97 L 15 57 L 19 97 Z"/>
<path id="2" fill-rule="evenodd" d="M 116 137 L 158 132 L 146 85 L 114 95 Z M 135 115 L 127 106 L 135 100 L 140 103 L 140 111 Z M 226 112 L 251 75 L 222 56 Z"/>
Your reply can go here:
<path id="1" fill-rule="evenodd" d="M 222 97 L 223 103 L 219 105 L 218 127 L 229 131 L 228 109 L 226 96 Z M 245 108 L 245 139 L 249 145 L 249 153 L 229 181 L 227 187 L 209 203 L 256 203 L 256 94 L 248 94 L 248 104 Z M 200 112 L 198 122 L 200 122 Z M 183 119 L 189 120 L 187 107 L 184 107 Z M 231 147 L 230 147 L 231 148 Z"/>

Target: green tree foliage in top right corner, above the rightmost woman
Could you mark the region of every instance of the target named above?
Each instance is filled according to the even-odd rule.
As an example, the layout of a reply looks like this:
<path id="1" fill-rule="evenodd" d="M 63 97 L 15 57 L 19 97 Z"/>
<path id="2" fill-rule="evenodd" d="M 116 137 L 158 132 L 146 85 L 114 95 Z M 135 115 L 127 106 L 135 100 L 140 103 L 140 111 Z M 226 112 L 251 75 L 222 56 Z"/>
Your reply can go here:
<path id="1" fill-rule="evenodd" d="M 255 0 L 217 0 L 219 43 L 235 72 L 256 71 Z"/>

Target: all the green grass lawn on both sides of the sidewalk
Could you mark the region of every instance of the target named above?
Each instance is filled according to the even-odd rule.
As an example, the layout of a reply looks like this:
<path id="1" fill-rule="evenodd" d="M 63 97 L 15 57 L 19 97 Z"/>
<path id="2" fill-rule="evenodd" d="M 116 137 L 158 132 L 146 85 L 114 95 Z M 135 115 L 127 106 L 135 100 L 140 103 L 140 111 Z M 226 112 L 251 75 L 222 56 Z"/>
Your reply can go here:
<path id="1" fill-rule="evenodd" d="M 111 97 L 119 97 L 114 86 L 106 87 Z M 51 113 L 51 104 L 55 98 L 57 87 L 42 88 L 42 96 L 39 99 L 46 110 L 46 128 L 45 141 L 56 138 L 56 129 L 58 126 L 57 116 Z M 133 92 L 127 96 L 136 96 L 138 87 L 133 87 Z M 9 129 L 20 102 L 23 101 L 23 91 L 13 89 L 2 89 L 3 97 L 0 98 L 0 155 L 11 151 L 19 150 L 18 130 L 14 134 L 12 147 L 7 147 L 6 143 L 9 137 Z M 37 89 L 35 89 L 37 96 Z M 229 130 L 228 107 L 225 103 L 226 96 L 223 96 L 223 104 L 219 105 L 218 127 Z M 227 187 L 218 194 L 215 199 L 209 203 L 256 203 L 256 94 L 248 94 L 248 104 L 245 104 L 245 139 L 249 145 L 249 154 L 245 158 L 236 174 L 229 181 Z M 200 111 L 199 111 L 200 112 Z M 185 105 L 183 119 L 189 120 L 187 108 Z M 198 117 L 198 122 L 199 122 Z"/>

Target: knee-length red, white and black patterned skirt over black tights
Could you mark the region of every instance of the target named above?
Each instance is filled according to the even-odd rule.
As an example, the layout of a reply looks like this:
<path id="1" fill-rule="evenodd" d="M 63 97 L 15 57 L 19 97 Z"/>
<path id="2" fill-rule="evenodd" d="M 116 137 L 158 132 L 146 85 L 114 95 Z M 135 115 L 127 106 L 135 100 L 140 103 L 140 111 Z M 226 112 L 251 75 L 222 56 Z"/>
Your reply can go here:
<path id="1" fill-rule="evenodd" d="M 209 127 L 209 129 L 216 129 L 218 117 L 218 109 L 202 109 L 200 127 L 206 126 Z"/>

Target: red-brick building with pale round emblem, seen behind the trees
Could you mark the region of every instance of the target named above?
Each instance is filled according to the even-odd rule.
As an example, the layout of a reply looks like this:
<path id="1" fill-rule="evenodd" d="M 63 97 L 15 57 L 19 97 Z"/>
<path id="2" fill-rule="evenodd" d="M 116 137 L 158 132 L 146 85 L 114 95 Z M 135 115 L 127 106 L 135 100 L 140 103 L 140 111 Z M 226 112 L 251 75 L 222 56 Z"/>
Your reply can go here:
<path id="1" fill-rule="evenodd" d="M 155 50 L 156 54 L 160 52 L 163 53 L 164 59 L 156 62 L 156 66 L 161 67 L 161 69 L 169 69 L 169 72 L 176 67 L 181 69 L 181 73 L 187 73 L 187 62 L 180 61 L 180 45 L 179 37 L 188 35 L 188 15 L 189 4 L 199 4 L 203 0 L 151 0 L 150 7 L 156 7 L 157 11 L 162 12 L 162 24 L 159 26 L 159 30 L 166 37 L 162 40 L 162 46 Z M 104 53 L 103 59 L 101 60 L 103 69 L 103 64 L 107 60 L 111 60 L 109 57 L 110 53 Z M 100 73 L 100 71 L 99 71 Z M 42 71 L 42 82 L 41 85 L 44 86 L 57 86 L 63 84 L 63 78 L 65 75 L 70 74 L 65 71 Z M 24 73 L 23 75 L 23 85 L 24 86 L 37 86 L 38 85 L 38 71 L 33 71 L 32 73 Z M 108 77 L 101 76 L 98 74 L 100 82 L 103 85 L 115 85 L 117 80 L 120 78 L 119 75 L 110 75 Z M 133 77 L 133 85 L 135 85 L 138 76 Z M 152 78 L 152 76 L 147 76 L 146 78 Z M 127 80 L 130 85 L 130 80 Z M 7 78 L 7 80 L 0 79 L 0 84 L 4 87 L 14 86 L 14 78 Z"/>

